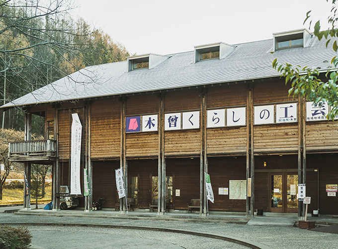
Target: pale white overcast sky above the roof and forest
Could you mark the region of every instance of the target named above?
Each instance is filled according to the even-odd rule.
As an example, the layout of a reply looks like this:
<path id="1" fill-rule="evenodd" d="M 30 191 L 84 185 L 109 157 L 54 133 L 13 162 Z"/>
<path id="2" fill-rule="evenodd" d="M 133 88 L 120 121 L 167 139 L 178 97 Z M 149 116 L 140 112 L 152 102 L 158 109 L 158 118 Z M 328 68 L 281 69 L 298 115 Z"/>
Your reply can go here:
<path id="1" fill-rule="evenodd" d="M 191 51 L 196 45 L 244 43 L 299 28 L 306 12 L 327 28 L 326 0 L 75 0 L 83 17 L 133 54 Z"/>

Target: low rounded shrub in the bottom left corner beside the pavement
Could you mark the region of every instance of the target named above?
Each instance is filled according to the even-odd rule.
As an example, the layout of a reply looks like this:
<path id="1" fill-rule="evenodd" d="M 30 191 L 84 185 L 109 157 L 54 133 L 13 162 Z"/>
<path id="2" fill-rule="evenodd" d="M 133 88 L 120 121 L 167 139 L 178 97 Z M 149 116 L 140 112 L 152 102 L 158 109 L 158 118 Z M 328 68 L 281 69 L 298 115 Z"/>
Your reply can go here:
<path id="1" fill-rule="evenodd" d="M 32 235 L 25 227 L 13 228 L 0 224 L 1 249 L 26 249 L 32 242 Z"/>

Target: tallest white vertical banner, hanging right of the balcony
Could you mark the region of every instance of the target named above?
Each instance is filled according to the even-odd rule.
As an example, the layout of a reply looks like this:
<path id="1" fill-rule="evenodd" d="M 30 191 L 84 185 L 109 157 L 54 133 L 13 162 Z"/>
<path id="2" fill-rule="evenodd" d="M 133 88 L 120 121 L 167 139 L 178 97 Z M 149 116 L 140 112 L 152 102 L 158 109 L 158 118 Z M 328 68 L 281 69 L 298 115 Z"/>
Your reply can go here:
<path id="1" fill-rule="evenodd" d="M 77 113 L 72 114 L 71 195 L 81 195 L 80 159 L 82 124 Z"/>

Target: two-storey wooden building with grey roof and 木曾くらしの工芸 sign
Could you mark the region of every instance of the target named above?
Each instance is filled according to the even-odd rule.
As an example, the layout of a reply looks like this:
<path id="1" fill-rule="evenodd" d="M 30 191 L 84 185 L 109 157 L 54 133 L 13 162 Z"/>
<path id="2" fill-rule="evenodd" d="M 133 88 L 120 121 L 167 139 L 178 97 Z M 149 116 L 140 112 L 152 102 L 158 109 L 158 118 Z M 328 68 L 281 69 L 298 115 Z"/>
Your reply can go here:
<path id="1" fill-rule="evenodd" d="M 71 182 L 72 114 L 78 114 L 77 196 L 84 210 L 91 210 L 84 169 L 92 199 L 104 198 L 103 207 L 114 208 L 115 169 L 121 167 L 136 208 L 149 209 L 157 199 L 159 214 L 187 210 L 192 199 L 206 214 L 204 172 L 215 196 L 210 211 L 301 216 L 298 185 L 306 184 L 309 210 L 338 214 L 338 123 L 325 118 L 332 107 L 289 97 L 272 68 L 277 58 L 318 68 L 325 77 L 334 55 L 325 41 L 301 29 L 269 40 L 219 42 L 87 67 L 2 106 L 22 106 L 27 113 L 26 141 L 11 143 L 9 158 L 24 162 L 27 175 L 30 163 L 53 165 L 58 210 L 60 186 Z M 30 140 L 32 115 L 45 118 L 45 140 Z"/>

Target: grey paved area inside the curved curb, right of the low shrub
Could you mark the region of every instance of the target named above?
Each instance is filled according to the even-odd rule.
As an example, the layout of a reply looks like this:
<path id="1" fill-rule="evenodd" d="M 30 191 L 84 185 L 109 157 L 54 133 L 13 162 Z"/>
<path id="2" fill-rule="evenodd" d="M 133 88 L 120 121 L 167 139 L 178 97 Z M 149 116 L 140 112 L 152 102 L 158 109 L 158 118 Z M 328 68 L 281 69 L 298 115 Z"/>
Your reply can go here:
<path id="1" fill-rule="evenodd" d="M 33 249 L 245 249 L 217 239 L 167 232 L 62 226 L 28 226 Z M 76 239 L 75 239 L 76 238 Z"/>

